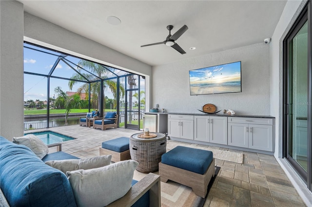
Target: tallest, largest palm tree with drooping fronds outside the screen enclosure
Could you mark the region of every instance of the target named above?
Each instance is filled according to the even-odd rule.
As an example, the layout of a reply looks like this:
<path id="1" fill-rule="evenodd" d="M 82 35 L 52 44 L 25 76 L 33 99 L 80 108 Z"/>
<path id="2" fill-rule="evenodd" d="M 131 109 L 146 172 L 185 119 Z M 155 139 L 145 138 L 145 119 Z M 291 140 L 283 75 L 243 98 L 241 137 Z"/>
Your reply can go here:
<path id="1" fill-rule="evenodd" d="M 95 74 L 96 76 L 92 75 L 92 74 L 81 73 L 81 71 L 82 71 L 81 68 L 88 69 L 91 73 Z M 88 81 L 92 81 L 93 82 L 93 81 L 100 80 L 100 78 L 101 79 L 107 78 L 106 74 L 109 73 L 109 71 L 106 68 L 104 68 L 103 66 L 101 66 L 100 64 L 97 64 L 97 63 L 94 63 L 94 62 L 89 62 L 89 61 L 86 61 L 86 60 L 80 60 L 78 62 L 77 70 L 84 77 L 79 75 L 79 74 L 74 74 L 71 77 L 71 79 L 84 80 L 84 81 L 87 79 Z M 114 69 L 112 69 L 112 70 L 114 70 Z M 73 86 L 79 82 L 79 81 L 76 81 L 76 80 L 70 80 L 69 81 L 68 86 L 69 86 L 70 90 L 72 90 Z M 100 81 L 91 83 L 90 93 L 92 95 L 92 105 L 93 105 L 93 108 L 97 108 L 97 109 L 99 108 L 99 103 L 100 103 L 100 87 L 101 87 L 100 86 Z M 104 91 L 105 91 L 105 89 L 107 87 L 112 91 L 112 93 L 114 94 L 114 97 L 115 97 L 115 102 L 116 102 L 117 83 L 115 81 L 112 81 L 112 80 L 106 80 L 106 81 L 104 81 L 104 86 L 103 87 L 104 87 Z M 120 88 L 120 96 L 122 97 L 124 95 L 124 88 L 121 85 L 119 86 L 119 88 Z M 89 84 L 85 83 L 85 84 L 81 85 L 78 88 L 77 92 L 79 94 L 85 93 L 86 96 L 89 97 Z M 105 94 L 103 94 L 103 97 L 105 97 Z M 97 99 L 98 99 L 98 103 L 96 103 Z M 105 98 L 104 98 L 103 110 L 105 110 Z"/>

